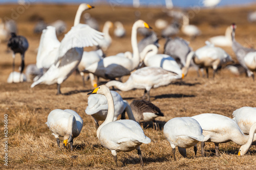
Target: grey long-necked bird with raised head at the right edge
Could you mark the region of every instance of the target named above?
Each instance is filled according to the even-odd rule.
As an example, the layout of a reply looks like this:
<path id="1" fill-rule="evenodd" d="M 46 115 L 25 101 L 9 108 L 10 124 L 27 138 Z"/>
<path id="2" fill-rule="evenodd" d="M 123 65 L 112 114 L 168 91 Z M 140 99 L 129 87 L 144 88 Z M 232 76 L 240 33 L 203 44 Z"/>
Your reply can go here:
<path id="1" fill-rule="evenodd" d="M 238 43 L 234 38 L 237 26 L 236 24 L 232 23 L 230 27 L 232 29 L 232 50 L 234 54 L 236 54 L 238 62 L 246 69 L 247 76 L 252 76 L 252 79 L 254 80 L 254 76 L 249 68 L 246 66 L 244 58 L 248 53 L 255 52 L 256 50 L 253 48 L 243 47 L 240 43 Z"/>

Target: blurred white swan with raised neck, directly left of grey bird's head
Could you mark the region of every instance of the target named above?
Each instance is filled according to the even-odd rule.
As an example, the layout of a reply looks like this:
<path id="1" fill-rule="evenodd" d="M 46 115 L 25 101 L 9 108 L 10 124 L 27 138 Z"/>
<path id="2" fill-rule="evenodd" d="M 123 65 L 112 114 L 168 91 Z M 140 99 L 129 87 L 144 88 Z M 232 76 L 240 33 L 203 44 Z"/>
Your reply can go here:
<path id="1" fill-rule="evenodd" d="M 232 30 L 230 27 L 227 27 L 225 35 L 219 35 L 209 38 L 209 41 L 218 46 L 232 46 Z"/>

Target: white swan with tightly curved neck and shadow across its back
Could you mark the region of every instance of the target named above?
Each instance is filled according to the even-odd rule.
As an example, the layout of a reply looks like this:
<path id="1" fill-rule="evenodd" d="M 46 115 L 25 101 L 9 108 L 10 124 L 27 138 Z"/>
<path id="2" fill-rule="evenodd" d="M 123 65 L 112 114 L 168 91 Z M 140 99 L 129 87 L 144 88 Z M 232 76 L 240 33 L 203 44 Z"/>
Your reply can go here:
<path id="1" fill-rule="evenodd" d="M 182 76 L 180 66 L 173 57 L 166 54 L 157 54 L 158 47 L 154 44 L 147 45 L 141 52 L 144 57 L 144 64 L 148 67 L 161 67 L 167 71 L 175 72 Z M 184 78 L 184 76 L 182 76 Z"/>

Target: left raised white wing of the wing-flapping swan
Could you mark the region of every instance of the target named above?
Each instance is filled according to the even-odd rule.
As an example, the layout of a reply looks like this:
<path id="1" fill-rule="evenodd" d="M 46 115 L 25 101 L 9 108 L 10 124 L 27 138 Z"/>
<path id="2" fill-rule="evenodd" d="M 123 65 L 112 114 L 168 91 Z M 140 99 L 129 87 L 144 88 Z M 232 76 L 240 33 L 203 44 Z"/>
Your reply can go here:
<path id="1" fill-rule="evenodd" d="M 37 68 L 49 68 L 56 58 L 60 42 L 56 37 L 55 27 L 48 26 L 42 31 L 36 56 Z"/>

